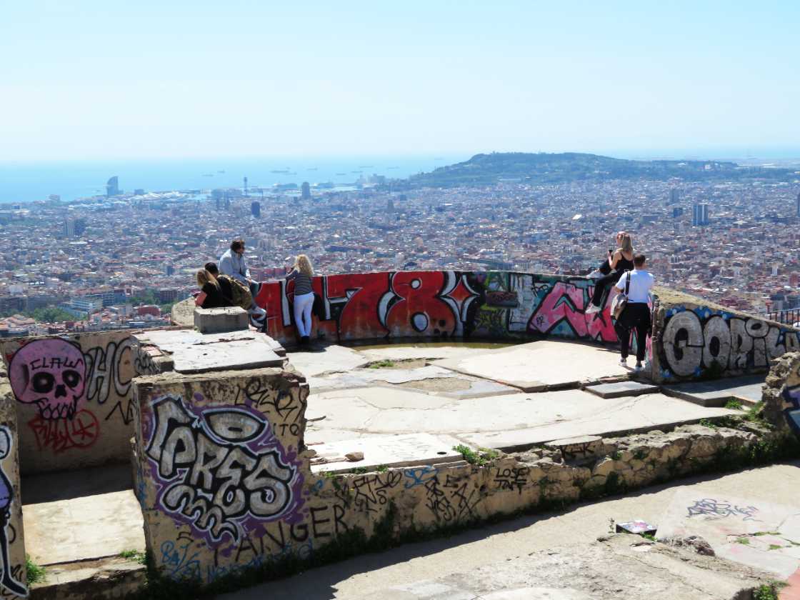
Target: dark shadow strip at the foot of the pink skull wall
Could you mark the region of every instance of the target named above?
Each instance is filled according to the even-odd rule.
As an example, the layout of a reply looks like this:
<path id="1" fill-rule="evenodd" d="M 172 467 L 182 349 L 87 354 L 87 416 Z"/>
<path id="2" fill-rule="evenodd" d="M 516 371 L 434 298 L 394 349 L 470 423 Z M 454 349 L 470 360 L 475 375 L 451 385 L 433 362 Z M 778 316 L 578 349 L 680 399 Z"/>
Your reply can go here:
<path id="1" fill-rule="evenodd" d="M 58 502 L 96 494 L 133 490 L 130 464 L 96 466 L 89 469 L 26 475 L 20 483 L 22 504 Z"/>

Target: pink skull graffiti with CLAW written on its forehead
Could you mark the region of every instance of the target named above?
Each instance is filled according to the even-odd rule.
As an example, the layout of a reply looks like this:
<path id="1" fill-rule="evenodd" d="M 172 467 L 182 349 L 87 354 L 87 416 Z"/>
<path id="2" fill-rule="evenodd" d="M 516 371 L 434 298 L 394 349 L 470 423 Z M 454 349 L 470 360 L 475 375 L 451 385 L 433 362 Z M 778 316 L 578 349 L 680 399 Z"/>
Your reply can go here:
<path id="1" fill-rule="evenodd" d="M 71 419 L 86 388 L 80 346 L 62 339 L 28 342 L 11 358 L 9 378 L 23 404 L 35 404 L 46 419 Z"/>

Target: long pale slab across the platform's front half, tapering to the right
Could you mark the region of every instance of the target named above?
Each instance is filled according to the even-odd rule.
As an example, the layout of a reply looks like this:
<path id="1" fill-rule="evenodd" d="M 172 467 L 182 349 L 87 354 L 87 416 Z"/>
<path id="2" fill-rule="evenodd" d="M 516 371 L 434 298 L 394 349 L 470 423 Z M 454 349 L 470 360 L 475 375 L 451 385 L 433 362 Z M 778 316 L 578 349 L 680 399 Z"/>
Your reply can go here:
<path id="1" fill-rule="evenodd" d="M 326 430 L 334 430 L 332 435 L 346 430 L 367 436 L 429 433 L 499 449 L 736 414 L 663 394 L 601 398 L 583 390 L 560 390 L 458 400 L 385 387 L 312 394 L 308 410 L 325 415 L 309 426 L 306 437 L 313 441 L 333 441 Z"/>

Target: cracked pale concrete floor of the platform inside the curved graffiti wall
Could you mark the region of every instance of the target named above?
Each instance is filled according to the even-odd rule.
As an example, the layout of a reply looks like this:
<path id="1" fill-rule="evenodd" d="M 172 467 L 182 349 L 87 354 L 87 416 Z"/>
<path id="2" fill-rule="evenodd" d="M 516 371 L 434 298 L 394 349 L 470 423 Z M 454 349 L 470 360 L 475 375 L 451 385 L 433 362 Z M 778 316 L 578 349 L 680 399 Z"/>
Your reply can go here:
<path id="1" fill-rule="evenodd" d="M 410 350 L 402 354 L 403 360 L 431 352 L 424 347 Z M 437 350 L 442 354 L 441 348 Z M 458 358 L 410 369 L 396 362 L 397 348 L 386 349 L 394 358 L 382 358 L 381 351 L 341 348 L 318 354 L 318 362 L 311 369 L 315 374 L 308 377 L 311 394 L 306 443 L 425 433 L 502 450 L 582 435 L 667 428 L 734 414 L 662 394 L 601 398 L 578 389 L 524 393 L 509 384 L 510 380 L 530 385 L 546 379 L 549 385 L 574 385 L 585 379 L 586 373 L 594 380 L 626 373 L 618 365 L 616 354 L 586 344 L 547 341 L 514 348 L 462 348 Z M 363 363 L 359 354 L 366 352 L 371 363 L 385 360 L 391 361 L 390 366 L 336 372 L 337 366 Z M 299 362 L 308 364 L 314 353 L 301 354 Z M 348 357 L 345 362 L 343 356 Z M 553 361 L 545 360 L 552 356 L 565 357 L 566 365 L 554 369 Z M 295 353 L 290 354 L 292 362 L 294 357 Z M 526 366 L 527 359 L 533 361 L 530 366 Z M 448 361 L 454 361 L 450 366 L 458 369 L 510 362 L 506 362 L 500 373 L 502 381 L 498 381 L 486 369 L 476 375 L 442 366 Z M 542 368 L 548 374 L 538 372 Z"/>

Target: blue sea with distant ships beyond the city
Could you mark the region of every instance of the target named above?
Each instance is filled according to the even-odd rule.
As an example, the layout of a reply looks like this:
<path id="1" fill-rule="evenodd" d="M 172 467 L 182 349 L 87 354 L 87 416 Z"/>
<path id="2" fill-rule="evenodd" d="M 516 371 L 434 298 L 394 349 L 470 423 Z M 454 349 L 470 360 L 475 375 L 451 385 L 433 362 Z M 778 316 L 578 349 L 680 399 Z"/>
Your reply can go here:
<path id="1" fill-rule="evenodd" d="M 51 194 L 62 202 L 106 193 L 109 178 L 119 178 L 119 189 L 212 190 L 249 188 L 302 182 L 347 186 L 373 174 L 407 178 L 439 166 L 465 161 L 462 156 L 350 157 L 350 158 L 219 158 L 160 161 L 82 161 L 0 163 L 0 202 L 46 200 Z"/>

